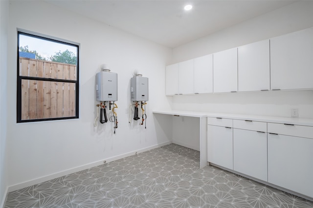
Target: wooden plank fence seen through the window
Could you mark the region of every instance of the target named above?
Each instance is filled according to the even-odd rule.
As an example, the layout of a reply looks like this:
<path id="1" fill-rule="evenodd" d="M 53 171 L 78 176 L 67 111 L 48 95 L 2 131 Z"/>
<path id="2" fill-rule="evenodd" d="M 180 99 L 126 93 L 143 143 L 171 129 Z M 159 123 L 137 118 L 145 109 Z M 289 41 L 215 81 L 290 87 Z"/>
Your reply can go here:
<path id="1" fill-rule="evenodd" d="M 20 58 L 20 76 L 76 80 L 76 65 Z M 22 120 L 75 116 L 75 83 L 22 79 Z"/>

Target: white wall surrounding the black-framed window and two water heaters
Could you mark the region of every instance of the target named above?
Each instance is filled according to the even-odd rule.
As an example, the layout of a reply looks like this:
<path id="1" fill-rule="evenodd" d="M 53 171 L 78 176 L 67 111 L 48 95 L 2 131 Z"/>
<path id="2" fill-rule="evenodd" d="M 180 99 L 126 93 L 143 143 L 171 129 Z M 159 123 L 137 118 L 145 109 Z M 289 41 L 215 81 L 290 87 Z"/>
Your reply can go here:
<path id="1" fill-rule="evenodd" d="M 16 123 L 17 28 L 80 43 L 79 119 Z M 10 190 L 170 141 L 170 130 L 159 125 L 164 119 L 155 118 L 152 110 L 159 105 L 170 108 L 164 95 L 164 69 L 172 56 L 171 49 L 43 1 L 11 1 L 8 46 Z M 111 71 L 118 74 L 119 123 L 115 135 L 112 123 L 98 122 L 93 127 L 95 74 L 102 63 L 109 64 Z M 149 77 L 147 129 L 138 122 L 129 124 L 125 113 L 130 104 L 134 68 Z"/>

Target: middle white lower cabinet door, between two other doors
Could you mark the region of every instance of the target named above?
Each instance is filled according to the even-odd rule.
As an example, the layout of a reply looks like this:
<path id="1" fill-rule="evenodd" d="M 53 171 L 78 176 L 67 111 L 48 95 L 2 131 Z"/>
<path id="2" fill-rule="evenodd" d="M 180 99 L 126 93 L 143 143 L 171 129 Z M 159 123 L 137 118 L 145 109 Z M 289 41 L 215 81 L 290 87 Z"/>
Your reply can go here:
<path id="1" fill-rule="evenodd" d="M 267 133 L 234 129 L 234 170 L 268 181 Z"/>

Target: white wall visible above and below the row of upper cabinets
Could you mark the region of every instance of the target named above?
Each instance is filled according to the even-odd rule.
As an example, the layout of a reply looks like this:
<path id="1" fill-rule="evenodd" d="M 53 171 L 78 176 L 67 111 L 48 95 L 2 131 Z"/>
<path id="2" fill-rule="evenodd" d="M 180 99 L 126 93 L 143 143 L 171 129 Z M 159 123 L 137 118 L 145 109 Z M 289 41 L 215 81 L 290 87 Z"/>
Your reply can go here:
<path id="1" fill-rule="evenodd" d="M 265 15 L 181 45 L 172 63 L 313 27 L 313 1 L 298 1 Z M 225 93 L 174 96 L 172 109 L 313 118 L 313 91 Z"/>

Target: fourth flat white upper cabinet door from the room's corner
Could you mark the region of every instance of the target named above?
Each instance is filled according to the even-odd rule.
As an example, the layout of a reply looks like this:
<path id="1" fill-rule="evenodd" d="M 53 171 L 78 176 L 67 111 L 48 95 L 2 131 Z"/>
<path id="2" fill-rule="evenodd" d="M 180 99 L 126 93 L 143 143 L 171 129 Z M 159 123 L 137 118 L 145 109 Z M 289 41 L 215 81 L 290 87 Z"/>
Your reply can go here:
<path id="1" fill-rule="evenodd" d="M 213 54 L 213 92 L 237 92 L 237 48 Z"/>

